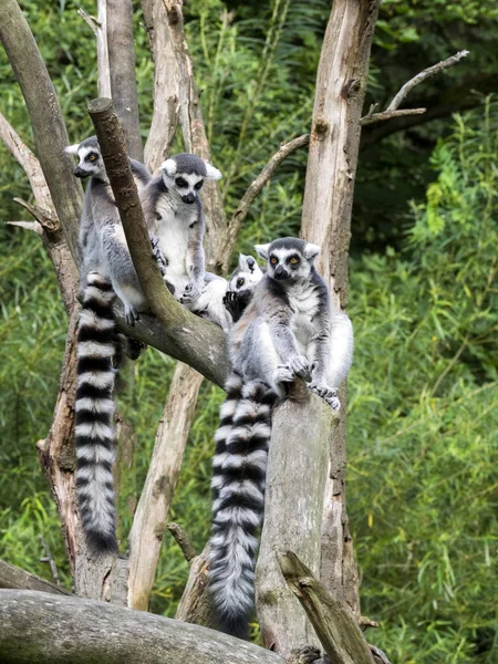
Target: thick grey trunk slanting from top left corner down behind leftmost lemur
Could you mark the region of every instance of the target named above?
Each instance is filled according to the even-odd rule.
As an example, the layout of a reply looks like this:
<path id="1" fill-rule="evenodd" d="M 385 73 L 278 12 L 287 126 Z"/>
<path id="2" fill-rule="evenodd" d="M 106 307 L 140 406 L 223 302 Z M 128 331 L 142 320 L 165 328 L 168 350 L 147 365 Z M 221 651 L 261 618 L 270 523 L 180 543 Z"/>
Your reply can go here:
<path id="1" fill-rule="evenodd" d="M 15 0 L 0 2 L 0 40 L 25 100 L 37 152 L 71 253 L 80 263 L 77 228 L 83 190 L 73 162 L 61 107 L 28 22 Z"/>

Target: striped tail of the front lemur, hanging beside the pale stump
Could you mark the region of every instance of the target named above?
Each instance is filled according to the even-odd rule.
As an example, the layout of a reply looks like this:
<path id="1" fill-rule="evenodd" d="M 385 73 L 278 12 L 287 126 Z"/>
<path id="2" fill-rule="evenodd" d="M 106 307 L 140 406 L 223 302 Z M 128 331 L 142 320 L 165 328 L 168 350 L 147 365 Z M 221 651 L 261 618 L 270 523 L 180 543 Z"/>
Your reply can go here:
<path id="1" fill-rule="evenodd" d="M 209 585 L 218 626 L 245 637 L 253 608 L 257 532 L 264 506 L 271 407 L 276 393 L 260 381 L 227 381 L 212 461 Z"/>

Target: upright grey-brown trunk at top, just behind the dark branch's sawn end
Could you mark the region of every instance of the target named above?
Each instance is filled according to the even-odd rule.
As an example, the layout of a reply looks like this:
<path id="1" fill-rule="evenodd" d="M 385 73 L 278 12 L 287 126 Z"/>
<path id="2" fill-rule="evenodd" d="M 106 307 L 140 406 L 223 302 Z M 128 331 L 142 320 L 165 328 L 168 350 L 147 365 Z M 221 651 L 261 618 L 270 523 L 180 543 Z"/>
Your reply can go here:
<path id="1" fill-rule="evenodd" d="M 132 0 L 107 0 L 107 50 L 111 92 L 129 156 L 144 160 L 135 80 Z"/>

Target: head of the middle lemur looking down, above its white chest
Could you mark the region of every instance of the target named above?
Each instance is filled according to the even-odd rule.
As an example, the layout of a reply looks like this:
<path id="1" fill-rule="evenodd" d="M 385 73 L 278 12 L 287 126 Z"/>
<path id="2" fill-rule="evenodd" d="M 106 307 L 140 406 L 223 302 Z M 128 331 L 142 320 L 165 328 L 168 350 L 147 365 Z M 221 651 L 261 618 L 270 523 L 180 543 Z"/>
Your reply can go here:
<path id="1" fill-rule="evenodd" d="M 217 180 L 221 177 L 221 173 L 211 164 L 188 153 L 169 157 L 160 166 L 160 170 L 168 191 L 187 205 L 197 200 L 206 180 Z"/>

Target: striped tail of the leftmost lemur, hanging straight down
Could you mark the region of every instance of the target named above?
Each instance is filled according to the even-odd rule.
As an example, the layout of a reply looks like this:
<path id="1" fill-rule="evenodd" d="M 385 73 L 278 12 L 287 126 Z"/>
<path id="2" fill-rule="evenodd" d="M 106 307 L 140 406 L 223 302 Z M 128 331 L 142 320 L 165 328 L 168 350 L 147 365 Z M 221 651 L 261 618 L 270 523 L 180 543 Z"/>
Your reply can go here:
<path id="1" fill-rule="evenodd" d="M 76 495 L 86 542 L 94 553 L 116 552 L 113 359 L 116 330 L 111 283 L 91 272 L 77 332 Z"/>

